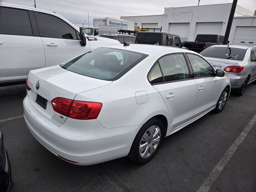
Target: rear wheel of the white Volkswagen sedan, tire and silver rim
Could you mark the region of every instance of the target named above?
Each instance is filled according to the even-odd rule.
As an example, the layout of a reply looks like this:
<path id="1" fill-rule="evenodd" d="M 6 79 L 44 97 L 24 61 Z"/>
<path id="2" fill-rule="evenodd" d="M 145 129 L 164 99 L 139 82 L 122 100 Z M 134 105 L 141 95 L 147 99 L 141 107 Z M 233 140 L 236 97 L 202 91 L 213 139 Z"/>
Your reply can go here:
<path id="1" fill-rule="evenodd" d="M 136 135 L 128 158 L 137 164 L 149 162 L 160 148 L 164 125 L 158 118 L 146 122 Z"/>

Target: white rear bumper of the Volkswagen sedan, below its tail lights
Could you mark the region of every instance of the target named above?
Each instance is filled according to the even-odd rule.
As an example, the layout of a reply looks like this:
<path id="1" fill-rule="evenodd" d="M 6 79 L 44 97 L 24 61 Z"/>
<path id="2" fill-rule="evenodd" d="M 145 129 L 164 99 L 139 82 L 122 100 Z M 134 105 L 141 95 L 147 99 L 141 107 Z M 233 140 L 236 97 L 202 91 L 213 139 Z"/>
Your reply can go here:
<path id="1" fill-rule="evenodd" d="M 127 156 L 139 126 L 104 128 L 98 120 L 67 118 L 56 126 L 23 101 L 24 118 L 32 135 L 50 152 L 77 165 L 90 165 Z"/>

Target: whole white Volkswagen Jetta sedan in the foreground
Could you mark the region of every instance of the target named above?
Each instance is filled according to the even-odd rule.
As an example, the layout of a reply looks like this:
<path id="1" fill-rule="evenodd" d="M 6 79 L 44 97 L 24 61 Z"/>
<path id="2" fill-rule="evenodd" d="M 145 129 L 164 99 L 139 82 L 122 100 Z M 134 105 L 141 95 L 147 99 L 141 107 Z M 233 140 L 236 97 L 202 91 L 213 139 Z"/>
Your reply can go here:
<path id="1" fill-rule="evenodd" d="M 223 110 L 230 93 L 224 73 L 180 48 L 97 48 L 30 71 L 24 118 L 43 146 L 70 163 L 128 156 L 143 164 L 162 138 Z"/>

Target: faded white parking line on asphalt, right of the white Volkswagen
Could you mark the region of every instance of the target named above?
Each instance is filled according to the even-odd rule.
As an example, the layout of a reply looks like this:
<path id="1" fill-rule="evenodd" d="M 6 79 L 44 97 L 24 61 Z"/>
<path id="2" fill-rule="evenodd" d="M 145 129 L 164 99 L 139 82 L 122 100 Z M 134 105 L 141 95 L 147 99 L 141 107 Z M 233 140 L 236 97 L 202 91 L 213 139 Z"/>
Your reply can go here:
<path id="1" fill-rule="evenodd" d="M 256 114 L 253 116 L 250 123 L 244 128 L 244 130 L 241 132 L 241 134 L 236 138 L 234 143 L 228 148 L 224 156 L 220 159 L 218 164 L 214 167 L 212 172 L 209 174 L 209 176 L 206 178 L 204 183 L 200 186 L 200 188 L 197 190 L 197 192 L 208 192 L 212 186 L 212 184 L 215 182 L 215 180 L 220 175 L 220 172 L 223 170 L 224 166 L 228 163 L 230 158 L 234 155 L 237 148 L 240 146 L 240 144 L 244 141 L 244 138 L 248 135 L 250 130 L 252 129 L 252 126 L 256 123 Z"/>

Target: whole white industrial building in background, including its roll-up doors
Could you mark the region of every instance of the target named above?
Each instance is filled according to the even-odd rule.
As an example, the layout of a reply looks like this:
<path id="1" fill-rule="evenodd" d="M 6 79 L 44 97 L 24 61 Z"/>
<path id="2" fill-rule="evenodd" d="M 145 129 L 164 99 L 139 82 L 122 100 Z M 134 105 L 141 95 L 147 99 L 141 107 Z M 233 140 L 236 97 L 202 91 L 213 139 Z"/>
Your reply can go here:
<path id="1" fill-rule="evenodd" d="M 134 20 L 135 26 L 160 28 L 178 34 L 182 41 L 194 41 L 197 34 L 224 35 L 232 3 L 164 8 L 162 15 L 123 16 Z M 236 12 L 230 31 L 231 44 L 256 45 L 256 16 L 241 6 Z M 250 43 L 249 43 L 250 42 Z"/>

